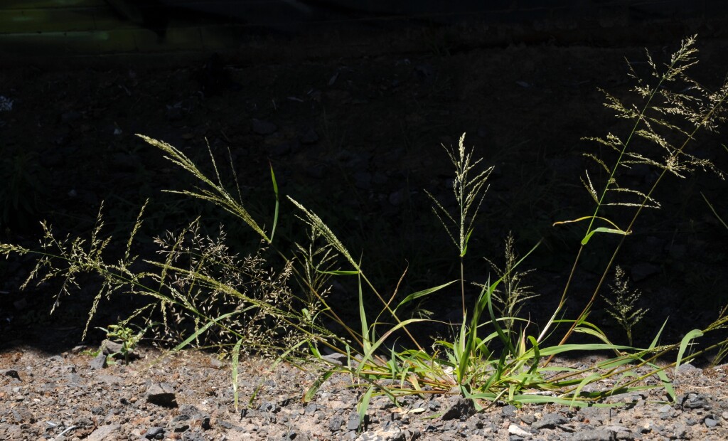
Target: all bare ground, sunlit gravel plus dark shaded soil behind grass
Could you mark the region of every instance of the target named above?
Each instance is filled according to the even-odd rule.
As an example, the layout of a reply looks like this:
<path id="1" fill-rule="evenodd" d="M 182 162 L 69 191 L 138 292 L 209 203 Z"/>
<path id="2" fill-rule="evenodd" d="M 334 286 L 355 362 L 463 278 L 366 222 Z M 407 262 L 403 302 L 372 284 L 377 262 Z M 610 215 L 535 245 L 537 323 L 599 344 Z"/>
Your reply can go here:
<path id="1" fill-rule="evenodd" d="M 648 49 L 664 61 L 677 47 L 678 42 L 665 42 Z M 728 71 L 728 40 L 701 40 L 698 48 L 695 77 L 718 87 Z M 234 245 L 250 246 L 255 238 L 233 219 L 203 203 L 160 192 L 194 183 L 134 136 L 143 133 L 182 149 L 207 171 L 207 146 L 218 163 L 230 158 L 245 200 L 260 219 L 272 219 L 272 165 L 282 194 L 320 214 L 349 249 L 371 262 L 383 292 L 395 289 L 407 267 L 400 289 L 415 292 L 456 272 L 457 253 L 430 215 L 423 190 L 441 200 L 447 197 L 452 172 L 440 144 L 456 146 L 467 133 L 465 144 L 475 146 L 484 164 L 495 166 L 470 243 L 468 270 L 476 275 L 473 280 L 484 281 L 489 267 L 481 257 L 500 262 L 509 231 L 521 254 L 544 238 L 526 262 L 537 268 L 530 284 L 539 297 L 523 310 L 542 322 L 561 295 L 580 233 L 553 227 L 553 222 L 583 216 L 590 209 L 579 177 L 590 167 L 582 152 L 593 144 L 582 137 L 624 133 L 603 106 L 598 87 L 627 96 L 633 83 L 625 58 L 646 74 L 643 48 L 461 48 L 435 41 L 422 52 L 378 55 L 371 48 L 368 53 L 336 59 L 311 54 L 295 64 L 246 65 L 213 57 L 175 69 L 0 71 L 0 95 L 7 98 L 0 101 L 0 160 L 4 180 L 14 183 L 0 190 L 3 241 L 37 243 L 40 219 L 48 219 L 61 235 L 88 235 L 104 201 L 106 231 L 123 243 L 138 207 L 151 198 L 138 242 L 142 254 L 153 252 L 151 237 L 178 230 L 197 215 L 207 219 L 211 230 L 225 224 Z M 715 148 L 719 144 L 720 138 L 700 138 L 695 149 L 725 169 L 728 155 Z M 232 182 L 229 168 L 223 176 Z M 628 179 L 630 184 L 649 184 L 654 175 L 637 169 Z M 686 179 L 670 179 L 657 195 L 662 209 L 641 219 L 620 254 L 617 263 L 641 290 L 641 306 L 649 308 L 636 332 L 637 343 L 649 343 L 668 317 L 673 319 L 663 339 L 676 341 L 715 319 L 727 303 L 721 286 L 728 232 L 700 192 L 719 213 L 728 213 L 724 182 L 716 176 L 691 173 Z M 282 206 L 285 219 L 293 213 L 290 204 Z M 295 240 L 297 228 L 284 222 L 282 240 Z M 590 296 L 610 246 L 607 238 L 585 256 L 568 311 L 579 311 Z M 728 424 L 722 367 L 689 367 L 686 378 L 679 380 L 683 389 L 677 404 L 656 404 L 661 392 L 646 392 L 634 397 L 636 404 L 612 413 L 499 405 L 443 421 L 437 415 L 450 407 L 453 397 L 413 397 L 403 410 L 381 398 L 373 404 L 365 433 L 357 433 L 357 427 L 340 429 L 347 427 L 355 409 L 357 389 L 347 387 L 348 378 L 327 383 L 311 407 L 301 404 L 300 397 L 314 379 L 312 373 L 288 365 L 269 373 L 265 362 L 251 359 L 240 396 L 252 405 L 241 417 L 233 410 L 226 364 L 214 362 L 209 354 L 186 352 L 148 367 L 157 353 L 144 349 L 143 359 L 129 366 L 92 370 L 90 356 L 73 348 L 80 343 L 95 286 L 82 286 L 76 297 L 61 298 L 49 317 L 55 287 L 31 286 L 21 292 L 18 286 L 31 268 L 28 259 L 11 257 L 0 265 L 0 431 L 7 439 L 140 439 L 149 438 L 155 426 L 162 428 L 159 439 L 189 440 L 409 440 L 415 434 L 422 439 L 553 440 L 728 436 L 722 429 Z M 352 287 L 337 289 L 341 303 L 350 303 Z M 598 304 L 591 318 L 613 340 L 624 340 L 604 306 Z M 458 311 L 459 297 L 445 292 L 422 308 L 446 316 Z M 93 325 L 115 323 L 126 312 L 123 305 L 103 303 Z M 90 337 L 91 348 L 100 334 Z M 563 361 L 574 362 L 579 360 Z M 178 407 L 148 402 L 148 391 L 157 381 L 170 383 Z M 693 402 L 697 404 L 686 407 Z M 534 426 L 547 418 L 558 422 Z M 529 434 L 518 429 L 509 434 L 512 424 Z M 99 432 L 105 430 L 110 434 Z"/>

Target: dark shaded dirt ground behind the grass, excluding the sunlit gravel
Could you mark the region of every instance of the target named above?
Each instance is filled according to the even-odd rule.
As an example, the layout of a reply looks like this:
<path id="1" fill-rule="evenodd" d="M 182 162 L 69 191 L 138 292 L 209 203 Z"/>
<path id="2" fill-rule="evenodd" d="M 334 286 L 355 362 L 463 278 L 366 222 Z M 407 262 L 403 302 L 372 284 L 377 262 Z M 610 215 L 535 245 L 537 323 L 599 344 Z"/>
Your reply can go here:
<path id="1" fill-rule="evenodd" d="M 648 49 L 656 61 L 665 61 L 678 44 Z M 719 87 L 728 71 L 728 40 L 699 40 L 697 47 L 695 77 L 708 88 Z M 363 256 L 384 292 L 394 289 L 407 267 L 400 289 L 414 292 L 456 273 L 457 253 L 430 213 L 424 190 L 447 197 L 452 171 L 440 144 L 456 145 L 467 133 L 465 144 L 495 167 L 470 244 L 471 280 L 487 278 L 483 257 L 502 260 L 509 231 L 521 254 L 544 238 L 525 264 L 537 268 L 530 284 L 539 297 L 524 309 L 535 321 L 543 319 L 561 295 L 581 233 L 553 222 L 590 214 L 579 177 L 591 165 L 582 152 L 602 152 L 582 137 L 625 130 L 604 107 L 598 87 L 627 96 L 633 82 L 625 58 L 648 74 L 644 49 L 550 44 L 462 49 L 435 42 L 427 52 L 371 53 L 312 56 L 296 64 L 210 58 L 161 70 L 0 71 L 0 95 L 7 98 L 2 102 L 12 102 L 0 112 L 1 173 L 12 183 L 0 189 L 2 241 L 37 243 L 41 219 L 61 234 L 88 234 L 103 201 L 107 231 L 124 243 L 138 207 L 150 198 L 141 254 L 153 251 L 151 237 L 178 230 L 198 214 L 210 228 L 225 224 L 234 246 L 250 246 L 254 238 L 244 225 L 203 203 L 160 192 L 194 182 L 134 136 L 142 133 L 182 149 L 207 171 L 208 144 L 219 163 L 232 158 L 251 211 L 266 225 L 272 219 L 272 165 L 281 193 L 320 214 Z M 701 138 L 695 148 L 725 170 L 721 139 Z M 229 168 L 223 176 L 232 183 Z M 636 185 L 653 178 L 643 170 L 629 176 Z M 637 343 L 652 340 L 668 317 L 664 338 L 678 339 L 714 319 L 728 302 L 728 231 L 700 196 L 703 192 L 719 213 L 728 214 L 724 189 L 708 173 L 669 179 L 657 195 L 662 209 L 641 219 L 622 250 L 617 264 L 641 289 L 641 306 L 649 308 Z M 281 213 L 292 219 L 295 208 L 284 204 Z M 300 233 L 284 221 L 279 228 L 282 241 Z M 585 256 L 568 311 L 583 306 L 610 246 L 605 239 Z M 95 288 L 84 286 L 77 297 L 61 299 L 49 317 L 55 287 L 17 289 L 29 268 L 24 259 L 0 262 L 0 348 L 68 351 L 79 344 Z M 355 292 L 339 286 L 335 295 L 350 303 Z M 622 330 L 604 306 L 596 305 L 592 319 L 622 342 Z M 457 311 L 459 298 L 444 292 L 422 308 L 447 314 Z M 114 323 L 123 309 L 102 304 L 94 324 Z"/>

